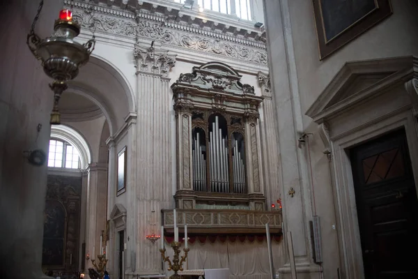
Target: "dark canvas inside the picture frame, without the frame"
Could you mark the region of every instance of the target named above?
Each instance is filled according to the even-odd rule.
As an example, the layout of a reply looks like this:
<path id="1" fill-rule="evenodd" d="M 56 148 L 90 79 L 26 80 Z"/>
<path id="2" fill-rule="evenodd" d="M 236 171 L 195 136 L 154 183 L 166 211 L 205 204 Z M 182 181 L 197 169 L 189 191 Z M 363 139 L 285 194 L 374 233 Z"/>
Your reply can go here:
<path id="1" fill-rule="evenodd" d="M 375 0 L 320 0 L 325 37 L 336 37 L 377 8 Z"/>

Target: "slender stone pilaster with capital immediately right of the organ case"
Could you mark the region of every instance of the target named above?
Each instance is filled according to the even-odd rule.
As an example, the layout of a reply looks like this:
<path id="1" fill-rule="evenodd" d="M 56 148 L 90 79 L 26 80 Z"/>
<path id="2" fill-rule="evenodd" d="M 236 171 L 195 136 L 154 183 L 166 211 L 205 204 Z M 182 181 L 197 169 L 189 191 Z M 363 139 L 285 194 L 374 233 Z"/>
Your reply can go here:
<path id="1" fill-rule="evenodd" d="M 261 146 L 263 150 L 263 178 L 265 183 L 265 197 L 267 204 L 276 204 L 280 197 L 280 163 L 279 149 L 277 147 L 277 121 L 272 91 L 270 89 L 270 77 L 265 73 L 258 73 L 258 84 L 261 86 L 263 96 L 263 121 L 261 121 Z"/>

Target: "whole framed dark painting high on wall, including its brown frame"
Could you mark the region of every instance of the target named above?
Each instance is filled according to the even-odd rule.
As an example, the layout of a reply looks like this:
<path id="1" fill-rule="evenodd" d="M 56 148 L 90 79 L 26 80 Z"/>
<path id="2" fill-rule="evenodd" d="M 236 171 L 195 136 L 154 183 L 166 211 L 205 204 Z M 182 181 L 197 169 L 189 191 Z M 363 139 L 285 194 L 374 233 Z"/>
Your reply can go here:
<path id="1" fill-rule="evenodd" d="M 320 60 L 392 15 L 390 0 L 312 0 Z"/>

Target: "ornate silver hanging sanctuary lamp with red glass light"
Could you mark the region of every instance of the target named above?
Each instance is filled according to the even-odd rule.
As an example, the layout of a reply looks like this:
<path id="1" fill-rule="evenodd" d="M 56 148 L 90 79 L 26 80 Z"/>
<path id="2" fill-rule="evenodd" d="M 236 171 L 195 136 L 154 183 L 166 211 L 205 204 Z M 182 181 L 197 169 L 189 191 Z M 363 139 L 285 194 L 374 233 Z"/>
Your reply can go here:
<path id="1" fill-rule="evenodd" d="M 26 43 L 36 57 L 42 61 L 45 73 L 54 79 L 49 87 L 54 91 L 54 107 L 51 113 L 50 123 L 60 124 L 61 114 L 58 110 L 59 99 L 65 89 L 66 82 L 77 77 L 79 67 L 88 62 L 91 52 L 95 47 L 95 36 L 85 44 L 74 41 L 80 33 L 80 26 L 72 21 L 72 12 L 63 9 L 59 13 L 59 19 L 55 20 L 54 33 L 45 39 L 39 38 L 34 29 L 42 10 L 43 0 L 40 1 L 38 13 L 33 20 L 31 31 L 27 36 Z"/>

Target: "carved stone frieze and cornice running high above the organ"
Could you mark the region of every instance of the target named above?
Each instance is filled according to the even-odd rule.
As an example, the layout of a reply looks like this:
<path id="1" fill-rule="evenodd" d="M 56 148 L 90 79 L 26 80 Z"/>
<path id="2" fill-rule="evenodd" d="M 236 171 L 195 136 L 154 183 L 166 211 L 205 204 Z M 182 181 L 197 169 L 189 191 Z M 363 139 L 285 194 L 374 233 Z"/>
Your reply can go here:
<path id="1" fill-rule="evenodd" d="M 254 31 L 249 33 L 245 29 L 235 28 L 230 34 L 231 27 L 214 30 L 206 26 L 208 22 L 203 26 L 203 20 L 196 18 L 188 22 L 178 22 L 171 20 L 167 15 L 151 13 L 148 10 L 130 12 L 114 6 L 105 7 L 102 4 L 78 1 L 64 3 L 66 6 L 73 3 L 75 20 L 91 31 L 125 36 L 137 42 L 144 38 L 159 40 L 163 45 L 170 47 L 181 47 L 263 66 L 267 66 L 268 63 L 265 43 L 259 39 L 259 34 L 254 38 L 249 37 Z M 200 22 L 200 25 L 196 22 Z M 213 22 L 211 26 L 215 25 L 217 23 Z"/>

